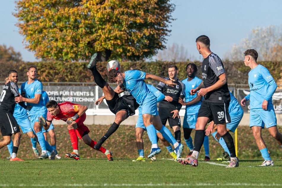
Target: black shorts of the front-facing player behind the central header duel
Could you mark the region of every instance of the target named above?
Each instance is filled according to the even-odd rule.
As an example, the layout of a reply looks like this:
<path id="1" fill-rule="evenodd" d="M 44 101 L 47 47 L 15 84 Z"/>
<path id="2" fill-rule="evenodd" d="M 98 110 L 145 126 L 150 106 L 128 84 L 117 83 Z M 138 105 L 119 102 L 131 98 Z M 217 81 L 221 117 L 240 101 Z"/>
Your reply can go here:
<path id="1" fill-rule="evenodd" d="M 173 119 L 172 117 L 173 113 L 171 113 L 171 111 L 173 111 L 173 109 L 159 108 L 158 112 L 159 112 L 160 119 L 162 121 L 162 125 L 165 125 L 168 120 L 170 128 L 172 128 L 173 126 L 181 127 L 180 118 L 176 117 L 175 119 Z"/>

